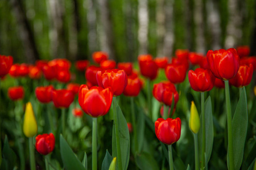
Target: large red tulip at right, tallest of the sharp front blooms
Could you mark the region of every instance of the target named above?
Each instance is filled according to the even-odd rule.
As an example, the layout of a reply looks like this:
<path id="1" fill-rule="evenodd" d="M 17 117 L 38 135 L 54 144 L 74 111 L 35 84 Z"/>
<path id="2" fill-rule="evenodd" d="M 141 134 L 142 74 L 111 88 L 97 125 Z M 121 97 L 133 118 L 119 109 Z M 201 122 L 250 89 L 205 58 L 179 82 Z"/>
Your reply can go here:
<path id="1" fill-rule="evenodd" d="M 213 75 L 222 80 L 232 79 L 239 69 L 240 58 L 236 49 L 209 50 L 207 61 Z"/>

